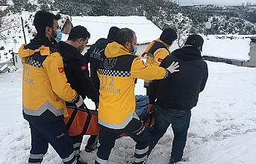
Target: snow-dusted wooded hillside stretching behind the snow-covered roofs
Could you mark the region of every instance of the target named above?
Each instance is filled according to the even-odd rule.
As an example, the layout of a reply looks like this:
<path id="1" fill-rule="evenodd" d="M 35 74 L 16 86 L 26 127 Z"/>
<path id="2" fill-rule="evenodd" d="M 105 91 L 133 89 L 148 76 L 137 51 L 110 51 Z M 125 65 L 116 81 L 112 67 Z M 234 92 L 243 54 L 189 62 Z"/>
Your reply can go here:
<path id="1" fill-rule="evenodd" d="M 6 2 L 7 0 L 0 0 Z M 247 6 L 220 7 L 178 6 L 172 0 L 13 0 L 7 13 L 23 10 L 48 10 L 72 16 L 146 16 L 161 30 L 174 27 L 179 33 L 206 33 L 205 22 L 211 21 L 209 34 L 255 34 L 256 9 Z M 32 3 L 32 4 L 31 4 Z M 10 10 L 10 11 L 8 11 Z M 4 13 L 3 11 L 2 13 Z"/>

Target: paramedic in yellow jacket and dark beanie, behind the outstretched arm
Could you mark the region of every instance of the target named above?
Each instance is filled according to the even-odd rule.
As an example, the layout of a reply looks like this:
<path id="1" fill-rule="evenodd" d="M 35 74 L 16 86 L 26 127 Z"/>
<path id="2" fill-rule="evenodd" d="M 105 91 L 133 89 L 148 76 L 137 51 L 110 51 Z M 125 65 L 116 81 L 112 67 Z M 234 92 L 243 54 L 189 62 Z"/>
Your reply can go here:
<path id="1" fill-rule="evenodd" d="M 146 63 L 150 65 L 159 66 L 160 63 L 169 55 L 169 47 L 177 39 L 177 33 L 172 28 L 166 28 L 160 35 L 160 39 L 153 40 L 146 48 L 142 57 L 147 55 Z M 144 88 L 146 88 L 146 95 L 149 95 L 149 79 L 144 80 Z"/>

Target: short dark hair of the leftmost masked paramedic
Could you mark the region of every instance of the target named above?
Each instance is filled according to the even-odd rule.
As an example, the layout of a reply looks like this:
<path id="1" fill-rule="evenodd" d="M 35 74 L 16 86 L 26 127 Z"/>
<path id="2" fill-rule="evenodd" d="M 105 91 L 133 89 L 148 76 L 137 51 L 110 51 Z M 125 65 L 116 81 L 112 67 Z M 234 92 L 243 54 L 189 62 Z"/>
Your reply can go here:
<path id="1" fill-rule="evenodd" d="M 34 26 L 37 29 L 37 33 L 44 36 L 46 34 L 46 27 L 53 28 L 53 20 L 60 20 L 60 15 L 54 15 L 46 10 L 37 11 L 34 16 Z"/>

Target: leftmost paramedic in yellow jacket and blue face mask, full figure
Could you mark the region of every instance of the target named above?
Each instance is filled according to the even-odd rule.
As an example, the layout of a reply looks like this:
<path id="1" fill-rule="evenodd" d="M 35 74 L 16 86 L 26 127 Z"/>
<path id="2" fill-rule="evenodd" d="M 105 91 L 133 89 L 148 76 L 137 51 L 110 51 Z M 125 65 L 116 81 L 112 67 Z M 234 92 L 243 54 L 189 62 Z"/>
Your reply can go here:
<path id="1" fill-rule="evenodd" d="M 80 106 L 83 102 L 67 83 L 60 53 L 53 43 L 60 40 L 59 15 L 38 11 L 34 17 L 37 36 L 19 48 L 23 62 L 22 111 L 31 128 L 28 163 L 42 163 L 49 143 L 63 163 L 77 162 L 63 117 L 65 101 Z"/>

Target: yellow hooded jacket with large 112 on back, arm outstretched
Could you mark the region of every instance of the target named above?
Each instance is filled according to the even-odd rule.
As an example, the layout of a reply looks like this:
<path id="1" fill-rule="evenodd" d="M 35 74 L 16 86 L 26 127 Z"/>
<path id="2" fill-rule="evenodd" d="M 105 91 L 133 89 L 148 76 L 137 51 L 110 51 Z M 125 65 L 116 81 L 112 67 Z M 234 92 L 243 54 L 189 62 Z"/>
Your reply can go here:
<path id="1" fill-rule="evenodd" d="M 168 71 L 147 65 L 117 42 L 107 45 L 98 68 L 100 80 L 99 124 L 110 129 L 122 129 L 134 113 L 135 79 L 163 79 Z M 170 73 L 169 73 L 170 74 Z"/>

